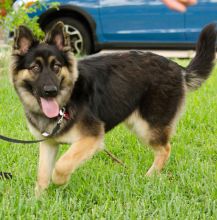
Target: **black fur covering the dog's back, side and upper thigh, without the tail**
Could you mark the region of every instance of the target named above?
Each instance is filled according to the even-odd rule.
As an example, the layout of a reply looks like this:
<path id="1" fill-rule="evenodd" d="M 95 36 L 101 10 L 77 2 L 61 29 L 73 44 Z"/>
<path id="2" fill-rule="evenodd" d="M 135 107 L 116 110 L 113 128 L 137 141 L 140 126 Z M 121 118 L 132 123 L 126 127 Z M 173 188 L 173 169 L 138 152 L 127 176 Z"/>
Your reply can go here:
<path id="1" fill-rule="evenodd" d="M 152 126 L 168 125 L 184 95 L 182 69 L 152 53 L 93 56 L 79 61 L 78 70 L 71 106 L 83 102 L 106 131 L 136 109 Z"/>

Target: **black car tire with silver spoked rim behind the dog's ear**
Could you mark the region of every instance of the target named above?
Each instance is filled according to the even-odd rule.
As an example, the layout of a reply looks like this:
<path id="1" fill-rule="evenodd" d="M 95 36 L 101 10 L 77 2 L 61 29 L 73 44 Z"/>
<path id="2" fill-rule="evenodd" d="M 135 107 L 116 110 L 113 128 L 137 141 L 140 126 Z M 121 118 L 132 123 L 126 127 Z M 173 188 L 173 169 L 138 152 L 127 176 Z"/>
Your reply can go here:
<path id="1" fill-rule="evenodd" d="M 45 32 L 48 32 L 58 21 L 62 21 L 65 25 L 65 30 L 71 39 L 71 47 L 74 54 L 78 56 L 91 54 L 93 51 L 93 45 L 90 33 L 85 25 L 78 19 L 71 17 L 61 17 L 55 19 L 43 28 Z"/>

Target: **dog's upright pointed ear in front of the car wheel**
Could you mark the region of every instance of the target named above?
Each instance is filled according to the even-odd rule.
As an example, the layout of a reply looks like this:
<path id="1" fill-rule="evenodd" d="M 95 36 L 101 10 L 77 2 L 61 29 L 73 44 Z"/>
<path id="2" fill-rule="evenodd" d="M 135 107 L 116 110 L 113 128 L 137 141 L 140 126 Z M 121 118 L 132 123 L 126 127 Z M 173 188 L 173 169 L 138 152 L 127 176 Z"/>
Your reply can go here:
<path id="1" fill-rule="evenodd" d="M 45 36 L 45 43 L 55 45 L 59 50 L 71 49 L 69 35 L 65 31 L 63 22 L 57 22 Z"/>

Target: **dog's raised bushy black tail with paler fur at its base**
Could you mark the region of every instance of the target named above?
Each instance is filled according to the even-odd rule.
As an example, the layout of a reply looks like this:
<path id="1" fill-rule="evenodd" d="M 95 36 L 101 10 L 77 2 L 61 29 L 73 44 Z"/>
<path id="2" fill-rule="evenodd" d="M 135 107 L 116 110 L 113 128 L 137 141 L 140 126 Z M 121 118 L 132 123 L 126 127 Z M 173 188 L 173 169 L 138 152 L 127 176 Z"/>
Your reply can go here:
<path id="1" fill-rule="evenodd" d="M 196 55 L 186 68 L 185 80 L 188 90 L 201 86 L 209 77 L 214 66 L 216 52 L 216 24 L 204 27 L 196 45 Z"/>

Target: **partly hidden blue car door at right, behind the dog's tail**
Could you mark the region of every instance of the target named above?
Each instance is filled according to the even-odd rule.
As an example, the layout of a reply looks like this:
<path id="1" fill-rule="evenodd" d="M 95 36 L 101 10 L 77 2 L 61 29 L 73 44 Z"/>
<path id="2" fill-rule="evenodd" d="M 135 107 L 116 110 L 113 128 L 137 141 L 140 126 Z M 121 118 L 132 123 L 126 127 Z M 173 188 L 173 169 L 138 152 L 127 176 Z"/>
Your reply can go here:
<path id="1" fill-rule="evenodd" d="M 217 1 L 198 0 L 196 5 L 188 8 L 185 16 L 186 40 L 194 43 L 202 27 L 217 21 Z"/>

